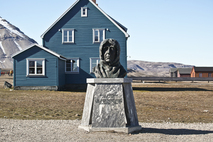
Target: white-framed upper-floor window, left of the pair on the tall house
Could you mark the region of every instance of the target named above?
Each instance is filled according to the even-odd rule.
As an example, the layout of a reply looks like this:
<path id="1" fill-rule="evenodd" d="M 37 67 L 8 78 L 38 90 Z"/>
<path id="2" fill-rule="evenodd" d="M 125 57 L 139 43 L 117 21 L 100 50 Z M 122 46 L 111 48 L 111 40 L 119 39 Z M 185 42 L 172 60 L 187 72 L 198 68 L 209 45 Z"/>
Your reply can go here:
<path id="1" fill-rule="evenodd" d="M 62 29 L 62 43 L 74 43 L 74 29 Z"/>

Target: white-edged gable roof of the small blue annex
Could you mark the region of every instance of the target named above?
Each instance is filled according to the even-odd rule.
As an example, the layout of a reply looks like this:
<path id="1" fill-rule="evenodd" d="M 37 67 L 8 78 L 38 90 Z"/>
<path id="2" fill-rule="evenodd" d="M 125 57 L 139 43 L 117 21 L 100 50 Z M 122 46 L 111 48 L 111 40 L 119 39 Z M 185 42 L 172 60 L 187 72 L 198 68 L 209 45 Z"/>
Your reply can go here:
<path id="1" fill-rule="evenodd" d="M 41 48 L 42 50 L 45 50 L 45 51 L 47 51 L 48 53 L 50 53 L 50 54 L 52 54 L 52 55 L 54 55 L 54 56 L 56 56 L 56 57 L 58 57 L 58 58 L 61 58 L 61 59 L 64 59 L 64 60 L 67 59 L 67 58 L 63 57 L 62 55 L 60 55 L 60 54 L 58 54 L 58 53 L 56 53 L 56 52 L 54 52 L 54 51 L 52 51 L 52 50 L 50 50 L 50 49 L 47 49 L 47 48 L 45 48 L 45 47 L 43 47 L 43 46 L 41 46 L 41 45 L 38 45 L 38 44 L 32 44 L 32 45 L 30 45 L 29 47 L 27 47 L 27 48 L 25 48 L 25 49 L 23 49 L 23 50 L 21 50 L 21 51 L 15 53 L 15 54 L 13 54 L 13 55 L 12 55 L 12 58 L 15 57 L 15 56 L 17 56 L 17 55 L 19 55 L 19 54 L 21 54 L 21 53 L 23 53 L 24 51 L 26 51 L 26 50 L 28 50 L 28 49 L 34 47 L 34 46 L 37 46 L 37 47 Z"/>

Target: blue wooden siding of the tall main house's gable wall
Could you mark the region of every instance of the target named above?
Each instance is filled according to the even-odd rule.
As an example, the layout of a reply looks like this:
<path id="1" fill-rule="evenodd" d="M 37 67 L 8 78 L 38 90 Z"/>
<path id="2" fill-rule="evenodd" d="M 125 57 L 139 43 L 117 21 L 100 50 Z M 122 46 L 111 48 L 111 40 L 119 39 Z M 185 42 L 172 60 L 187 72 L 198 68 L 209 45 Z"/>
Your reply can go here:
<path id="1" fill-rule="evenodd" d="M 88 7 L 88 16 L 81 17 L 81 7 Z M 63 28 L 75 29 L 75 43 L 62 44 Z M 81 0 L 73 7 L 43 38 L 43 46 L 55 51 L 66 58 L 79 57 L 79 74 L 66 74 L 66 84 L 84 84 L 90 74 L 90 58 L 99 57 L 100 43 L 93 43 L 93 28 L 106 30 L 105 37 L 116 39 L 121 46 L 120 61 L 127 69 L 126 37 L 108 18 L 93 4 Z M 59 31 L 60 29 L 60 31 Z"/>

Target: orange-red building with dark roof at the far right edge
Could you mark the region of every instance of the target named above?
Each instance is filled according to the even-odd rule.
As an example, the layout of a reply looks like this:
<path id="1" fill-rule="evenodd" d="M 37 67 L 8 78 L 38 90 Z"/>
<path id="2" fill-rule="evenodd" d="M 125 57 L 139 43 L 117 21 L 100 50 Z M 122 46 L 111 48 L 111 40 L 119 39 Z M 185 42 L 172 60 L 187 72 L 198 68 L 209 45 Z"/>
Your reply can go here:
<path id="1" fill-rule="evenodd" d="M 193 67 L 191 77 L 213 77 L 213 67 Z"/>

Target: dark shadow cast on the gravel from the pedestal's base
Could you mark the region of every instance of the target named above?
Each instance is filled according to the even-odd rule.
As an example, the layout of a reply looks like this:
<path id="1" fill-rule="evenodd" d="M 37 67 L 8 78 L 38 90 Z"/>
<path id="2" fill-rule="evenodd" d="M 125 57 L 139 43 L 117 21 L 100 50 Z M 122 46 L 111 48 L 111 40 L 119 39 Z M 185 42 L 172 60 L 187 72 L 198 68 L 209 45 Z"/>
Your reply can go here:
<path id="1" fill-rule="evenodd" d="M 157 128 L 142 128 L 140 131 L 134 132 L 132 134 L 140 133 L 159 133 L 165 135 L 203 135 L 211 134 L 213 131 L 207 130 L 194 130 L 194 129 L 157 129 Z"/>

